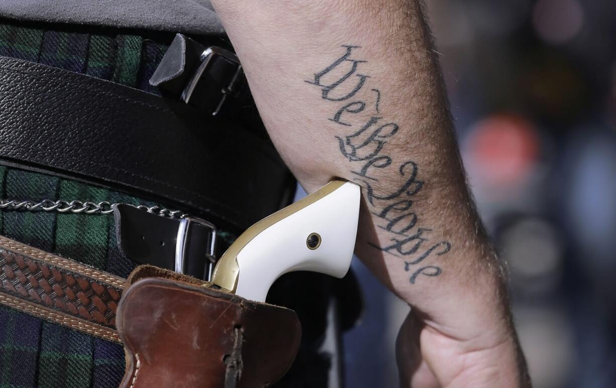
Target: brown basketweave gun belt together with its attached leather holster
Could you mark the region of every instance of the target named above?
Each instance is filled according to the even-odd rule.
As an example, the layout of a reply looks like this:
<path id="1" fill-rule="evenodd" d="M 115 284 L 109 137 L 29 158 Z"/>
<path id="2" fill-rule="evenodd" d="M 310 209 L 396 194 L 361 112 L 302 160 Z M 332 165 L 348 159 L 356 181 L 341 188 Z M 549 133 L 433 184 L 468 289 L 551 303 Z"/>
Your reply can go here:
<path id="1" fill-rule="evenodd" d="M 0 236 L 0 280 L 0 304 L 122 342 L 121 387 L 269 386 L 299 348 L 295 312 L 158 267 L 124 280 Z"/>

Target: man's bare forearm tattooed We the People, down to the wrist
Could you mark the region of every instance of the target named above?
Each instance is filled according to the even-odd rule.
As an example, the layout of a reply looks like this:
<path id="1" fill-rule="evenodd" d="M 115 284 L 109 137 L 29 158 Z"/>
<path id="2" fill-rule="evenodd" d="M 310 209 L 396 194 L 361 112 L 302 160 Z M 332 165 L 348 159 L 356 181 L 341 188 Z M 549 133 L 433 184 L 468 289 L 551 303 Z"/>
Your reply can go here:
<path id="1" fill-rule="evenodd" d="M 357 255 L 460 352 L 511 341 L 503 357 L 516 357 L 500 263 L 468 196 L 419 2 L 214 6 L 302 186 L 334 176 L 362 186 Z"/>

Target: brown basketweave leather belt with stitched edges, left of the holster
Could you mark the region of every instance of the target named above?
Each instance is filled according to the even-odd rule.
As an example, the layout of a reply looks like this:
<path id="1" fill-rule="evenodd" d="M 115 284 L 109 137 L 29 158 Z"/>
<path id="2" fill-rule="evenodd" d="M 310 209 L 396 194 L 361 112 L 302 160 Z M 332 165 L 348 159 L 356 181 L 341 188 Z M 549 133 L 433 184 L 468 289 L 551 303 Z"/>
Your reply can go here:
<path id="1" fill-rule="evenodd" d="M 0 304 L 120 342 L 124 279 L 0 236 Z"/>

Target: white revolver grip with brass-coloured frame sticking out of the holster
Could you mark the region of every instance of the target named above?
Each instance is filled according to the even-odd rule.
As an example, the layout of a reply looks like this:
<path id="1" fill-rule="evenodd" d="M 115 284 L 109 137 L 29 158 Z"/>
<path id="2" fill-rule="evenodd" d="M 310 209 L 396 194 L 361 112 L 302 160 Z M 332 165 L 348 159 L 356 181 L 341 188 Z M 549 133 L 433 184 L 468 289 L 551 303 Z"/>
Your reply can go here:
<path id="1" fill-rule="evenodd" d="M 232 245 L 220 260 L 232 255 L 237 261 L 235 293 L 264 301 L 272 283 L 292 271 L 343 277 L 355 247 L 359 204 L 357 184 L 333 181 L 251 226 L 233 243 L 241 247 Z M 213 277 L 221 287 L 225 284 L 217 278 L 225 277 L 222 271 L 233 272 L 224 267 L 219 262 Z M 228 282 L 225 288 L 230 288 Z"/>

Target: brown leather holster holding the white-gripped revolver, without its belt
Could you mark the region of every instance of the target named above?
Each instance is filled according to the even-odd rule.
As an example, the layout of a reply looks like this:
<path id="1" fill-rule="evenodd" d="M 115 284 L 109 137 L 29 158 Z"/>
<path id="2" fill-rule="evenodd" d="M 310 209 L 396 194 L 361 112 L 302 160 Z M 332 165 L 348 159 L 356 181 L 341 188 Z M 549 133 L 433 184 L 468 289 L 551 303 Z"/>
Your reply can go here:
<path id="1" fill-rule="evenodd" d="M 127 280 L 116 317 L 122 388 L 268 387 L 297 354 L 295 312 L 152 266 Z"/>

